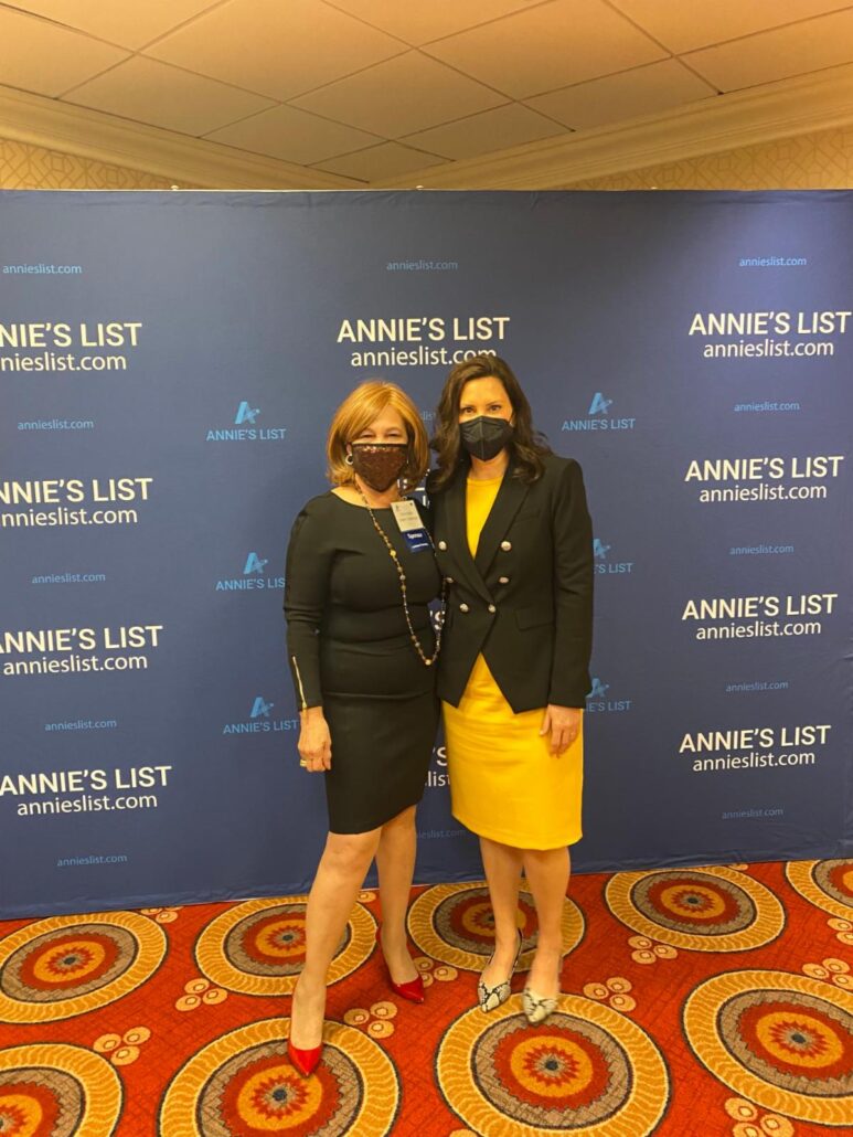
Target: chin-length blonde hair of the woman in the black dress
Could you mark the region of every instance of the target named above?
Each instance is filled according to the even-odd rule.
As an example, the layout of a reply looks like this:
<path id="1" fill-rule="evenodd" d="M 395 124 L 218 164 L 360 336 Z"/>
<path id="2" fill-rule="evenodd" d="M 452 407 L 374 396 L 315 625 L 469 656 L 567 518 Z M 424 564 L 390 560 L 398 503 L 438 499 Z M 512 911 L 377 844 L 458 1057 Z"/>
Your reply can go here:
<path id="1" fill-rule="evenodd" d="M 396 410 L 406 425 L 408 460 L 400 474 L 403 489 L 413 489 L 424 476 L 430 464 L 430 445 L 417 407 L 396 383 L 368 379 L 346 397 L 334 412 L 329 428 L 325 443 L 329 463 L 326 476 L 333 485 L 353 483 L 353 467 L 345 460 L 347 443 L 358 438 L 387 407 Z"/>

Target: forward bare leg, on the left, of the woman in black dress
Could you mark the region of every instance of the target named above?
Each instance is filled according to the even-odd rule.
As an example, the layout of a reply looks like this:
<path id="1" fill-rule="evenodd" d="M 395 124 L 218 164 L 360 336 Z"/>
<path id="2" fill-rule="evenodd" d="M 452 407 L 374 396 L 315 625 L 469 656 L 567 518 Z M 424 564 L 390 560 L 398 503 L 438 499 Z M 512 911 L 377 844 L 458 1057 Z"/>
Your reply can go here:
<path id="1" fill-rule="evenodd" d="M 366 833 L 329 833 L 326 838 L 305 913 L 305 965 L 293 990 L 290 1038 L 299 1049 L 310 1049 L 322 1041 L 329 964 L 375 855 L 380 833 L 380 829 L 372 829 Z"/>

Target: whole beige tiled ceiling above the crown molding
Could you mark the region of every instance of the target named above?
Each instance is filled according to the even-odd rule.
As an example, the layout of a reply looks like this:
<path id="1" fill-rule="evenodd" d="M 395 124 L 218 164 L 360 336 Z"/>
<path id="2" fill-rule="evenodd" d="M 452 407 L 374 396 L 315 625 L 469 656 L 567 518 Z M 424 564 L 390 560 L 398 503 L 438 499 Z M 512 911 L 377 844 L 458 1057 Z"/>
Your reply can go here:
<path id="1" fill-rule="evenodd" d="M 851 63 L 838 0 L 0 2 L 0 91 L 318 184 L 452 173 Z"/>

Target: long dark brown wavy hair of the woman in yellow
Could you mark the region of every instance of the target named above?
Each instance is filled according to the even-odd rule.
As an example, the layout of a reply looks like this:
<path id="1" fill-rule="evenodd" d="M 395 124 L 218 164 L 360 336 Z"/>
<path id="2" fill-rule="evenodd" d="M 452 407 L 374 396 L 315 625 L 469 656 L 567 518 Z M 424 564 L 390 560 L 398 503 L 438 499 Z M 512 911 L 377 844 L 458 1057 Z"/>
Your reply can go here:
<path id="1" fill-rule="evenodd" d="M 510 442 L 510 454 L 515 467 L 513 478 L 530 484 L 538 481 L 545 472 L 543 458 L 553 451 L 545 435 L 533 430 L 530 404 L 512 367 L 498 356 L 479 355 L 457 364 L 447 376 L 441 391 L 436 412 L 438 426 L 430 440 L 437 456 L 437 466 L 430 473 L 428 482 L 431 493 L 446 489 L 458 467 L 471 462 L 459 439 L 462 389 L 472 379 L 491 377 L 500 381 L 513 408 L 513 438 Z"/>

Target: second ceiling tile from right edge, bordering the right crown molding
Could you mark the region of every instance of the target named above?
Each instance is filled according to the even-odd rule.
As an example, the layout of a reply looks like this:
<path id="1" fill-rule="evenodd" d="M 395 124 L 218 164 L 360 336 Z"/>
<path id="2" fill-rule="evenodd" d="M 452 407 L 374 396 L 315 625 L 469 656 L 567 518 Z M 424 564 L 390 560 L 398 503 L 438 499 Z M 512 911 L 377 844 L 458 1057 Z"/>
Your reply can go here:
<path id="1" fill-rule="evenodd" d="M 664 59 L 619 75 L 539 94 L 527 102 L 535 110 L 541 110 L 580 131 L 637 115 L 652 115 L 715 94 L 714 88 L 678 60 Z"/>

